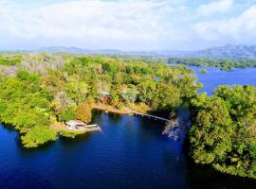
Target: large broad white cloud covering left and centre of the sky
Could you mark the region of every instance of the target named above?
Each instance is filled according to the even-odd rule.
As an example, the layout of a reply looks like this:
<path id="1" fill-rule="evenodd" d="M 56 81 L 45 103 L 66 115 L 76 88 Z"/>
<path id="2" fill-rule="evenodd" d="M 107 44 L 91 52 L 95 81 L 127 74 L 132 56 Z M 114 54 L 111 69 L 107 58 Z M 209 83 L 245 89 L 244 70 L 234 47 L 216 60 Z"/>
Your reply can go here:
<path id="1" fill-rule="evenodd" d="M 138 48 L 154 48 L 174 34 L 166 17 L 176 10 L 168 1 L 146 0 L 66 1 L 39 9 L 4 3 L 0 35 L 23 41 L 52 39 L 64 45 L 83 43 L 83 47 L 99 47 L 102 42 L 101 47 L 119 48 L 121 43 L 133 42 Z"/>

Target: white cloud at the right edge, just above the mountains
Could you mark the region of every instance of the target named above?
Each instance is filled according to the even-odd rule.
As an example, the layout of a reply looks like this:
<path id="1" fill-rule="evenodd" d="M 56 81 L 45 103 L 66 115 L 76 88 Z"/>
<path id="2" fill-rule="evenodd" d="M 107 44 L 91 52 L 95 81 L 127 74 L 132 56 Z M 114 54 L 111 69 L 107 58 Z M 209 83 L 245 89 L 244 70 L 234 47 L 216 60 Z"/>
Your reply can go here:
<path id="1" fill-rule="evenodd" d="M 194 28 L 198 36 L 208 41 L 255 43 L 256 6 L 251 6 L 236 18 L 198 23 Z"/>

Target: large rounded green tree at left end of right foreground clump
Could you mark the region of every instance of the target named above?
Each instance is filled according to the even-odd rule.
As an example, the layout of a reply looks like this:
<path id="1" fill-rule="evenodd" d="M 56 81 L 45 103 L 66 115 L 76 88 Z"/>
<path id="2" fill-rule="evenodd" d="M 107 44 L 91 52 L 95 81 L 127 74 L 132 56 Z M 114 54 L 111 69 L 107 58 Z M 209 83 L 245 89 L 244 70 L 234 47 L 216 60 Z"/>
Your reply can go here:
<path id="1" fill-rule="evenodd" d="M 224 161 L 231 151 L 232 120 L 224 100 L 199 95 L 192 101 L 201 106 L 190 131 L 192 157 L 196 163 Z"/>

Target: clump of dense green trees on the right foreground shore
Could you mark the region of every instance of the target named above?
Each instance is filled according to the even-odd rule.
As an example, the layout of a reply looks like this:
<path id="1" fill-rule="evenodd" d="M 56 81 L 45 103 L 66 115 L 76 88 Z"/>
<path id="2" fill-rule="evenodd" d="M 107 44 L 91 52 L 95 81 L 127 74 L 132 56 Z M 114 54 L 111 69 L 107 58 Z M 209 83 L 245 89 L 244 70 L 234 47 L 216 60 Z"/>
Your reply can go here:
<path id="1" fill-rule="evenodd" d="M 196 163 L 256 179 L 256 88 L 219 86 L 192 99 L 191 155 Z"/>

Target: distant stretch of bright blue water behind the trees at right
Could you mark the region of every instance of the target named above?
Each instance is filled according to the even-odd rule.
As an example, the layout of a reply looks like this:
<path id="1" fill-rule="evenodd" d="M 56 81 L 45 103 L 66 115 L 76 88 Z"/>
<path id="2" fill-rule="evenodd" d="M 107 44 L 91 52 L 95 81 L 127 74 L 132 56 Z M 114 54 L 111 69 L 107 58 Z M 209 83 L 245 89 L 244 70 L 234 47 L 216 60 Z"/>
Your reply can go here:
<path id="1" fill-rule="evenodd" d="M 207 92 L 208 94 L 212 94 L 214 89 L 219 85 L 256 85 L 256 68 L 234 68 L 230 72 L 225 72 L 214 67 L 188 67 L 195 70 L 198 82 L 204 84 L 204 88 L 200 89 L 199 92 Z M 201 69 L 207 69 L 209 73 L 200 74 Z"/>

